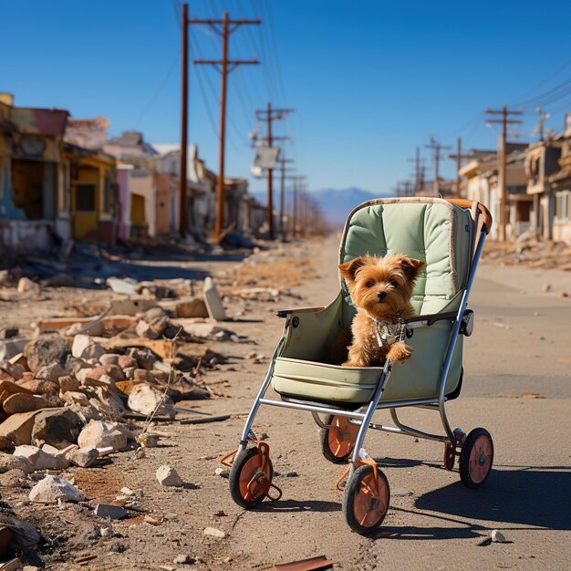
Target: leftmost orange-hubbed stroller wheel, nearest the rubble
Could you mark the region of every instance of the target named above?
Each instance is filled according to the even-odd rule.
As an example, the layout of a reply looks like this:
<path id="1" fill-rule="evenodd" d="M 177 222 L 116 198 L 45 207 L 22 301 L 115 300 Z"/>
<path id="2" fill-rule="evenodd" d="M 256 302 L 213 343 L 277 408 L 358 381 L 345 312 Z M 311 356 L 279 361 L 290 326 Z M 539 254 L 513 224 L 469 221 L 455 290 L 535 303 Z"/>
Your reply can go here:
<path id="1" fill-rule="evenodd" d="M 264 462 L 257 447 L 243 450 L 235 457 L 230 471 L 230 493 L 234 502 L 246 509 L 260 504 L 273 477 L 272 461 L 267 458 Z"/>

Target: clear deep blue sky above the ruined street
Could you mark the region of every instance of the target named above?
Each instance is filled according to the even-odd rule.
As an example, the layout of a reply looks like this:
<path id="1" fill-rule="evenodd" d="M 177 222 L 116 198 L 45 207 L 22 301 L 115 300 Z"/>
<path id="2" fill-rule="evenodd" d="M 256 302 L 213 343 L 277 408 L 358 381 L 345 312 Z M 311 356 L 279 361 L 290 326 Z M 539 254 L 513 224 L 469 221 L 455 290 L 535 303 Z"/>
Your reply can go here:
<path id="1" fill-rule="evenodd" d="M 177 142 L 181 4 L 1 0 L 0 90 L 14 93 L 19 106 L 107 117 L 111 135 L 136 129 L 151 142 Z M 371 192 L 407 178 L 407 159 L 431 135 L 443 144 L 462 136 L 465 147 L 494 147 L 487 107 L 516 105 L 562 84 L 543 99 L 553 116 L 547 126 L 561 130 L 571 110 L 566 1 L 190 2 L 195 16 L 223 9 L 263 20 L 231 39 L 231 57 L 258 57 L 262 65 L 230 76 L 229 175 L 249 175 L 253 109 L 268 100 L 296 109 L 275 131 L 294 138 L 288 152 L 311 189 L 356 185 Z M 206 26 L 192 26 L 191 57 L 220 57 L 220 41 Z M 219 88 L 214 69 L 192 66 L 190 139 L 214 170 Z M 529 133 L 535 101 L 524 110 L 521 132 Z M 452 176 L 452 161 L 444 164 Z M 264 186 L 252 182 L 254 190 Z"/>

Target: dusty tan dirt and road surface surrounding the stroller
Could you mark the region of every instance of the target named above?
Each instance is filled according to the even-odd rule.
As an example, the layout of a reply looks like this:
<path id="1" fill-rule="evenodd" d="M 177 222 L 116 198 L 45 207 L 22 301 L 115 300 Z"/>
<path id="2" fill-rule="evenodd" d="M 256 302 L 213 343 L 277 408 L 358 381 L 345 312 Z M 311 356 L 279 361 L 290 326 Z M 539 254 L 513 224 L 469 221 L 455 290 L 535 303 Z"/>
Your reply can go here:
<path id="1" fill-rule="evenodd" d="M 296 246 L 291 257 L 303 261 L 301 283 L 292 277 L 298 265 L 284 265 L 282 257 L 281 267 L 266 272 L 264 284 L 291 288 L 289 295 L 278 302 L 227 303 L 228 313 L 236 317 L 225 325 L 251 343 L 209 342 L 227 356 L 226 363 L 204 377 L 221 396 L 188 404 L 231 414 L 229 420 L 161 423 L 156 427 L 164 434 L 161 445 L 147 449 L 144 458 L 122 452 L 111 455 L 100 469 L 69 469 L 64 476 L 75 479 L 88 504 L 30 504 L 26 479 L 0 480 L 2 502 L 43 536 L 36 565 L 101 571 L 265 569 L 327 555 L 335 569 L 348 570 L 568 569 L 571 300 L 558 294 L 571 293 L 569 272 L 490 265 L 479 269 L 470 303 L 476 327 L 465 343 L 462 395 L 449 412 L 452 426 L 464 431 L 482 426 L 493 435 L 494 467 L 483 488 L 469 490 L 457 470 L 443 469 L 441 444 L 369 431 L 366 447 L 389 478 L 391 505 L 375 537 L 356 535 L 343 519 L 342 494 L 335 489 L 344 466 L 322 456 L 311 415 L 262 407 L 254 431 L 267 435 L 275 483 L 284 495 L 253 511 L 234 504 L 228 480 L 215 470 L 218 459 L 237 447 L 280 337 L 283 322 L 275 310 L 323 306 L 337 295 L 337 237 Z M 212 262 L 201 264 L 200 270 L 223 273 L 221 289 L 232 289 L 247 282 L 244 275 L 233 276 L 234 266 L 234 261 Z M 551 285 L 549 292 L 543 291 L 545 284 Z M 11 325 L 24 327 L 32 314 L 72 315 L 78 305 L 101 302 L 99 293 L 79 290 L 54 290 L 47 297 L 41 304 L 5 302 L 0 311 Z M 376 418 L 389 420 L 382 413 Z M 418 428 L 440 431 L 438 415 L 431 411 L 406 410 L 403 418 Z M 175 467 L 184 487 L 162 487 L 155 478 L 161 464 Z M 113 501 L 123 486 L 140 491 L 140 513 L 112 524 L 96 517 L 91 506 Z M 109 527 L 102 537 L 101 528 Z M 225 536 L 204 535 L 206 527 Z M 481 545 L 493 529 L 501 530 L 508 543 Z M 192 556 L 194 564 L 174 564 L 179 554 Z M 79 561 L 90 555 L 96 556 Z"/>

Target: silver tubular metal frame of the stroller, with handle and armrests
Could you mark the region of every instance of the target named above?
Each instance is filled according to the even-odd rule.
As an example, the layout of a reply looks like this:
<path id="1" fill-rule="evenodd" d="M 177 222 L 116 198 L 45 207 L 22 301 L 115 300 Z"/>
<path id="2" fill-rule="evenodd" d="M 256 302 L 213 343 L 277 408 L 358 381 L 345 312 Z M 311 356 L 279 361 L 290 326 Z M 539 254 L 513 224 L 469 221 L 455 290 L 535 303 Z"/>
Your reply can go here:
<path id="1" fill-rule="evenodd" d="M 472 206 L 472 201 L 462 200 L 462 199 L 452 199 L 450 202 L 455 203 L 458 206 L 463 208 L 470 208 Z M 462 293 L 462 299 L 460 302 L 460 306 L 456 312 L 452 313 L 442 313 L 436 314 L 433 316 L 415 316 L 409 317 L 403 320 L 402 327 L 404 328 L 404 333 L 408 336 L 412 334 L 412 331 L 415 328 L 419 327 L 431 327 L 434 323 L 441 320 L 448 320 L 452 323 L 452 332 L 450 334 L 450 338 L 448 341 L 448 347 L 446 350 L 446 356 L 443 361 L 442 369 L 441 369 L 441 376 L 438 385 L 438 397 L 431 398 L 431 399 L 415 399 L 415 400 L 399 400 L 399 401 L 387 401 L 387 402 L 379 402 L 383 391 L 385 390 L 391 370 L 393 367 L 393 362 L 387 360 L 384 363 L 384 366 L 379 372 L 379 380 L 376 389 L 373 392 L 373 396 L 368 404 L 359 406 L 356 410 L 344 410 L 344 409 L 337 409 L 331 406 L 326 406 L 320 404 L 318 402 L 313 402 L 311 400 L 297 400 L 292 399 L 289 397 L 282 396 L 281 400 L 275 399 L 268 399 L 265 397 L 265 392 L 267 391 L 273 373 L 275 369 L 275 359 L 279 356 L 281 349 L 285 345 L 285 340 L 287 338 L 287 332 L 289 327 L 292 327 L 292 313 L 296 311 L 296 313 L 305 312 L 305 311 L 317 311 L 321 308 L 306 308 L 306 309 L 296 309 L 296 310 L 281 310 L 277 312 L 278 317 L 285 317 L 285 326 L 284 326 L 284 333 L 275 348 L 275 352 L 271 358 L 267 373 L 265 375 L 264 382 L 262 383 L 261 388 L 259 389 L 252 409 L 247 416 L 247 419 L 244 424 L 244 430 L 242 432 L 242 436 L 239 443 L 239 448 L 236 451 L 236 457 L 240 452 L 245 452 L 248 441 L 257 441 L 256 435 L 252 430 L 252 425 L 254 423 L 255 415 L 259 410 L 261 405 L 268 405 L 268 406 L 275 406 L 281 407 L 285 409 L 293 409 L 293 410 L 307 410 L 308 412 L 312 413 L 314 420 L 316 421 L 317 425 L 325 430 L 328 429 L 336 429 L 332 424 L 328 424 L 324 422 L 320 418 L 320 414 L 327 414 L 327 415 L 334 415 L 337 417 L 346 417 L 348 418 L 348 422 L 353 425 L 358 425 L 358 434 L 355 441 L 355 444 L 352 449 L 350 466 L 348 469 L 348 479 L 350 480 L 353 473 L 362 466 L 364 462 L 371 463 L 370 460 L 365 460 L 364 458 L 369 458 L 369 454 L 364 451 L 363 443 L 365 440 L 365 436 L 367 434 L 367 430 L 376 430 L 376 431 L 387 431 L 390 433 L 395 434 L 403 434 L 407 436 L 412 436 L 419 439 L 429 440 L 429 441 L 439 441 L 445 444 L 445 454 L 444 454 L 444 465 L 448 470 L 452 470 L 454 465 L 454 460 L 456 455 L 462 452 L 462 446 L 467 440 L 467 435 L 464 431 L 459 428 L 452 429 L 451 424 L 448 420 L 448 416 L 446 413 L 446 402 L 448 397 L 446 396 L 446 379 L 451 368 L 452 363 L 452 356 L 454 353 L 454 348 L 456 347 L 456 342 L 459 335 L 465 335 L 469 337 L 472 335 L 472 318 L 473 312 L 470 309 L 467 309 L 468 305 L 468 298 L 470 296 L 470 292 L 472 290 L 473 280 L 476 274 L 476 269 L 480 261 L 480 257 L 483 251 L 483 244 L 485 242 L 486 234 L 490 231 L 490 226 L 492 223 L 492 219 L 490 213 L 485 209 L 482 204 L 478 204 L 478 208 L 480 209 L 481 215 L 483 215 L 484 223 L 482 227 L 478 227 L 479 235 L 475 237 L 476 239 L 476 246 L 475 250 L 473 251 L 472 256 L 472 265 L 470 268 L 470 273 L 467 278 L 466 285 L 464 287 L 464 291 Z M 459 387 L 460 389 L 460 387 Z M 442 427 L 444 429 L 445 434 L 432 434 L 426 431 L 420 431 L 418 429 L 412 428 L 403 422 L 400 421 L 400 418 L 397 413 L 397 409 L 406 408 L 406 407 L 418 407 L 422 409 L 428 410 L 438 410 L 441 417 Z M 373 415 L 376 410 L 390 410 L 391 419 L 394 422 L 394 426 L 392 425 L 385 425 L 385 424 L 378 424 L 372 422 Z M 476 431 L 483 431 L 483 429 L 475 429 L 472 432 Z M 472 432 L 468 435 L 468 440 L 471 440 Z M 490 439 L 491 437 L 487 433 L 487 431 L 483 431 L 487 434 L 487 437 Z M 475 440 L 477 436 L 481 436 L 480 433 L 477 435 L 473 435 L 472 441 Z M 470 447 L 472 448 L 473 442 L 470 442 Z M 493 446 L 493 445 L 492 445 Z M 492 456 L 493 456 L 493 447 L 492 447 Z M 467 461 L 466 461 L 467 462 Z M 490 464 L 491 467 L 491 464 Z M 465 472 L 465 470 L 464 470 Z M 375 477 L 377 477 L 377 471 L 375 470 Z M 487 477 L 487 473 L 485 474 Z M 484 480 L 485 480 L 484 477 Z M 383 475 L 384 478 L 384 475 Z M 461 456 L 461 478 L 462 482 L 465 483 L 468 487 L 479 487 L 482 482 L 471 482 L 470 478 L 468 480 L 464 479 L 462 475 L 462 456 Z M 386 479 L 385 479 L 386 480 Z M 337 486 L 338 487 L 338 486 Z M 341 488 L 339 488 L 341 489 Z M 235 498 L 234 498 L 235 499 Z M 262 498 L 263 499 L 263 498 Z M 245 506 L 245 504 L 244 504 Z M 387 509 L 388 509 L 388 500 L 387 500 Z M 344 505 L 345 510 L 345 505 Z M 386 513 L 386 512 L 385 512 Z M 383 514 L 384 518 L 384 514 Z M 382 521 L 382 520 L 381 520 Z M 361 534 L 369 533 L 369 528 L 361 528 L 359 525 L 354 526 L 350 522 L 349 525 Z M 380 524 L 380 522 L 379 522 Z"/>

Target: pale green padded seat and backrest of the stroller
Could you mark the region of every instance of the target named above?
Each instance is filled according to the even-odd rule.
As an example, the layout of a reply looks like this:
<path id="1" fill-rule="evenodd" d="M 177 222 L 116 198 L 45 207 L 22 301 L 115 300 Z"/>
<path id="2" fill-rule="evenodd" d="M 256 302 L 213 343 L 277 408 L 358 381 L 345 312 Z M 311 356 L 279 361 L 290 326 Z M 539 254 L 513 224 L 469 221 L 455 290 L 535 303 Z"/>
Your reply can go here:
<path id="1" fill-rule="evenodd" d="M 348 216 L 339 263 L 362 254 L 407 254 L 422 260 L 411 300 L 416 315 L 456 311 L 460 306 L 472 261 L 472 214 L 438 198 L 378 199 L 364 202 Z M 328 364 L 330 347 L 355 315 L 345 284 L 337 297 L 318 311 L 294 311 L 297 327 L 287 337 L 276 360 L 272 386 L 282 396 L 315 400 L 356 409 L 369 402 L 382 368 L 348 368 Z M 414 330 L 407 343 L 412 357 L 396 364 L 381 401 L 432 399 L 438 385 L 452 332 L 450 321 Z M 456 343 L 446 394 L 462 375 L 462 339 Z"/>

